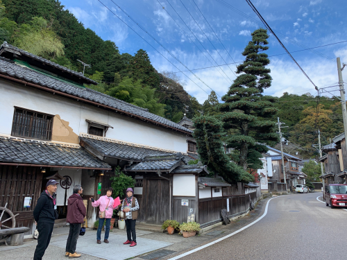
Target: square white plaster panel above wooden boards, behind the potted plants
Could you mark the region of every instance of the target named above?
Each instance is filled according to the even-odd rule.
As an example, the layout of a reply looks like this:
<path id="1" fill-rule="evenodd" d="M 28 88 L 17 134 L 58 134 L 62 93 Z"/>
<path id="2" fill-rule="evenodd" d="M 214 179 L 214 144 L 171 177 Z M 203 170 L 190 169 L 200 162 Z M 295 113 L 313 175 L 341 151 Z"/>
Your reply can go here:
<path id="1" fill-rule="evenodd" d="M 176 174 L 172 181 L 173 196 L 196 196 L 195 195 L 195 175 L 193 174 Z"/>

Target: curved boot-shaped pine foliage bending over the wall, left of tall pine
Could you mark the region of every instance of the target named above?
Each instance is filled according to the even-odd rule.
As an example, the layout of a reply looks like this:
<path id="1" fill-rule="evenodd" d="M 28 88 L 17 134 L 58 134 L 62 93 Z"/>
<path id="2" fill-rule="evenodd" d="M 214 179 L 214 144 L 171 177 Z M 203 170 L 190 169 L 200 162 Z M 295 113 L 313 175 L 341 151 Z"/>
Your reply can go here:
<path id="1" fill-rule="evenodd" d="M 223 123 L 214 116 L 196 116 L 194 121 L 193 137 L 198 146 L 198 155 L 203 164 L 208 166 L 209 171 L 217 173 L 229 183 L 252 182 L 254 177 L 244 171 L 242 166 L 230 161 L 224 153 L 221 137 Z"/>

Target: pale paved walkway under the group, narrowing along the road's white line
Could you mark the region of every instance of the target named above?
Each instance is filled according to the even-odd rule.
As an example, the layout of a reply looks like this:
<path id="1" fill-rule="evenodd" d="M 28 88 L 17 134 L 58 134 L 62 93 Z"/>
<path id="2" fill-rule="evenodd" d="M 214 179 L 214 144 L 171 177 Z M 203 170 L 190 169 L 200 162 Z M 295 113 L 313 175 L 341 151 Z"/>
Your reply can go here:
<path id="1" fill-rule="evenodd" d="M 232 221 L 230 225 L 219 225 L 208 232 L 187 239 L 178 234 L 169 235 L 167 233 L 149 232 L 137 229 L 137 246 L 134 248 L 123 245 L 124 241 L 126 241 L 126 231 L 124 229 L 115 228 L 113 232 L 110 232 L 110 243 L 105 244 L 101 242 L 101 245 L 96 243 L 96 230 L 87 229 L 85 236 L 80 236 L 78 239 L 76 252 L 83 254 L 83 257 L 81 257 L 83 260 L 121 260 L 130 258 L 133 260 L 143 260 L 170 258 L 242 228 L 261 214 L 266 201 L 267 199 L 261 200 L 255 210 L 251 211 L 244 218 Z M 68 233 L 69 227 L 59 227 L 53 230 L 51 243 L 43 259 L 66 260 L 65 245 Z M 103 241 L 103 234 L 101 236 L 101 241 Z M 36 245 L 36 240 L 25 242 L 24 245 L 19 247 L 6 247 L 5 245 L 0 245 L 0 260 L 33 259 Z"/>

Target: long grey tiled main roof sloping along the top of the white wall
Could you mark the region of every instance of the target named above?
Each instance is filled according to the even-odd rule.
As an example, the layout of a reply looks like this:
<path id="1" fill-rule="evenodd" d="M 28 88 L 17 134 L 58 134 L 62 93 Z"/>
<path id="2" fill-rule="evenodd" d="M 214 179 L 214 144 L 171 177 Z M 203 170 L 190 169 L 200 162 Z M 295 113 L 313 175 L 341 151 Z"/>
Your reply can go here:
<path id="1" fill-rule="evenodd" d="M 126 103 L 125 101 L 121 101 L 117 98 L 113 98 L 112 96 L 96 92 L 92 89 L 77 87 L 76 85 L 71 85 L 56 78 L 51 78 L 43 73 L 34 71 L 33 69 L 15 64 L 14 62 L 6 58 L 0 59 L 0 73 L 25 80 L 29 83 L 41 85 L 49 89 L 54 89 L 58 92 L 64 92 L 66 94 L 76 96 L 76 98 L 83 98 L 87 101 L 92 101 L 101 105 L 112 107 L 119 110 L 120 112 L 126 112 L 133 116 L 140 116 L 144 119 L 154 121 L 155 123 L 158 123 L 164 127 L 182 130 L 187 133 L 193 132 L 192 130 L 187 129 L 182 125 L 178 125 L 178 123 L 169 121 L 169 119 L 164 119 L 164 117 L 162 116 L 150 113 L 146 108 L 137 107 L 136 105 Z"/>

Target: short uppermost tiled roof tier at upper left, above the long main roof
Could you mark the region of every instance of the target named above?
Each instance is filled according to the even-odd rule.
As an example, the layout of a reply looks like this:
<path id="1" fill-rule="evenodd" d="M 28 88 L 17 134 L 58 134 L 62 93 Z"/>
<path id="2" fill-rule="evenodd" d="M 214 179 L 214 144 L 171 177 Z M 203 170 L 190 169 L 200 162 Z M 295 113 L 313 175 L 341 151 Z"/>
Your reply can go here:
<path id="1" fill-rule="evenodd" d="M 83 76 L 83 73 L 81 72 L 77 72 L 77 71 L 73 71 L 71 69 L 67 69 L 67 67 L 64 67 L 62 65 L 56 64 L 55 62 L 51 62 L 50 60 L 46 60 L 44 58 L 41 58 L 40 56 L 34 55 L 33 53 L 28 53 L 28 51 L 24 51 L 22 49 L 17 48 L 16 46 L 12 46 L 11 44 L 8 44 L 7 42 L 3 42 L 3 44 L 1 44 L 0 47 L 0 55 L 3 52 L 11 52 L 11 53 L 16 53 L 18 55 L 18 53 L 20 53 L 20 55 L 25 55 L 33 60 L 37 60 L 39 62 L 42 62 L 43 64 L 48 64 L 51 67 L 55 67 L 56 69 L 60 69 L 62 71 L 66 71 L 70 74 L 73 74 L 74 76 L 78 76 L 78 78 L 83 78 L 83 80 L 86 80 L 89 83 L 92 84 L 98 84 L 96 83 L 94 80 L 91 80 L 90 78 L 87 78 L 85 76 Z"/>

